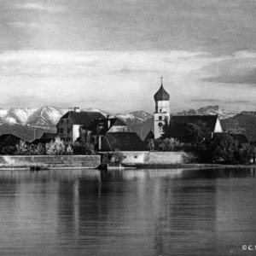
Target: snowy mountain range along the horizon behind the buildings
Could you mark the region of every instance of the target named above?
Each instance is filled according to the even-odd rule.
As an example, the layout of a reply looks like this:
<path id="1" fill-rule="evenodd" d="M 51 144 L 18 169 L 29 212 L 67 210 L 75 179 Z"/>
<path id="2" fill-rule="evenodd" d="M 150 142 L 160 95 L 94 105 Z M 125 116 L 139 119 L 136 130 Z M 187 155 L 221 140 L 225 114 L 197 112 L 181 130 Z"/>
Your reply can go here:
<path id="1" fill-rule="evenodd" d="M 27 141 L 32 141 L 34 132 L 40 137 L 44 131 L 55 131 L 55 125 L 61 116 L 73 108 L 9 108 L 0 109 L 0 134 L 13 133 Z M 137 134 L 144 138 L 153 128 L 153 114 L 145 111 L 111 114 L 98 108 L 85 108 L 82 111 L 97 111 L 105 116 L 116 116 L 125 121 Z M 243 111 L 232 113 L 218 106 L 207 106 L 198 109 L 188 109 L 176 115 L 218 114 L 224 130 L 245 134 L 249 140 L 256 140 L 256 112 Z"/>

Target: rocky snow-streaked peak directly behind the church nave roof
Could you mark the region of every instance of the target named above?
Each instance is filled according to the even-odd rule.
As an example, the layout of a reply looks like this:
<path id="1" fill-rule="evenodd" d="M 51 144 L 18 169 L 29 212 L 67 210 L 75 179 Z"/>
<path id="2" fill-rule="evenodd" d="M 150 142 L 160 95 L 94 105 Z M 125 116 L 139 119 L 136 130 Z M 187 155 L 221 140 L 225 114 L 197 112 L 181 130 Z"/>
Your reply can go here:
<path id="1" fill-rule="evenodd" d="M 228 119 L 236 115 L 236 113 L 225 111 L 224 109 L 221 109 L 216 106 L 207 106 L 203 108 L 198 109 L 188 109 L 184 110 L 183 112 L 176 113 L 177 115 L 194 115 L 194 114 L 200 114 L 200 115 L 207 115 L 207 114 L 218 114 L 219 119 Z"/>

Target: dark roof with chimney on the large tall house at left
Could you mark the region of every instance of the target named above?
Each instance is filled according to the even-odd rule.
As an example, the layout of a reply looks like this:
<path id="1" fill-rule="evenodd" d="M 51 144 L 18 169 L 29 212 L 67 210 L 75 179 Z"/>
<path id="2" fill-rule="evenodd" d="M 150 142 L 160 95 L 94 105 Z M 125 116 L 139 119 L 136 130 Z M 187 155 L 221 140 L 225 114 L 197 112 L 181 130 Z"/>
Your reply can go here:
<path id="1" fill-rule="evenodd" d="M 73 125 L 83 125 L 84 127 L 89 127 L 94 120 L 106 118 L 100 112 L 68 111 L 61 117 L 61 119 L 69 119 Z"/>

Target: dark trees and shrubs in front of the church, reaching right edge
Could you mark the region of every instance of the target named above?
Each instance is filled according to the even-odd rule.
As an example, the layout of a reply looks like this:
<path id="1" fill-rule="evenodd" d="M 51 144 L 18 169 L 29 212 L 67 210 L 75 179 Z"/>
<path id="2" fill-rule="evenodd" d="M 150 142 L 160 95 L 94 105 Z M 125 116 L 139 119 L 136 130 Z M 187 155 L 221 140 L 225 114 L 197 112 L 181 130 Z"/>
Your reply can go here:
<path id="1" fill-rule="evenodd" d="M 146 146 L 149 150 L 194 152 L 201 163 L 255 163 L 255 142 L 240 142 L 229 133 L 212 134 L 204 123 L 183 124 L 180 131 L 172 131 L 166 124 L 163 130 L 160 139 L 148 139 Z M 182 132 L 183 142 L 175 138 L 177 132 Z"/>

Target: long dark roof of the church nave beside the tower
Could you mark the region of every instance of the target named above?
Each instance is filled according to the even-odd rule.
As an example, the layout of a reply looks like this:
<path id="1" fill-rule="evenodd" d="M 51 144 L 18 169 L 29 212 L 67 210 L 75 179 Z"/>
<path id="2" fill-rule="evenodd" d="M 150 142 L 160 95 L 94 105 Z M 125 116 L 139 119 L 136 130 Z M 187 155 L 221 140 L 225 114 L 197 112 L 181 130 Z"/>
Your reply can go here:
<path id="1" fill-rule="evenodd" d="M 207 125 L 210 131 L 214 131 L 218 115 L 172 115 L 172 124 L 187 123 L 187 124 L 200 124 Z"/>

